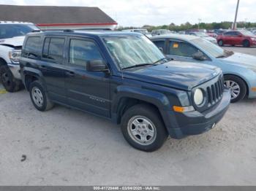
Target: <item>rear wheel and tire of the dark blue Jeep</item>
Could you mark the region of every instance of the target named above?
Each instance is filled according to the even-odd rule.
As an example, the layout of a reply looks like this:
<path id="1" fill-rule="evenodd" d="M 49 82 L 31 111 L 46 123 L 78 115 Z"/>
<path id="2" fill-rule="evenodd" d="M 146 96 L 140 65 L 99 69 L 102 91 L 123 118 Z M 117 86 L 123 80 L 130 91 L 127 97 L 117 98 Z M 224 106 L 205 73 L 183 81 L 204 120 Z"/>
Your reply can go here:
<path id="1" fill-rule="evenodd" d="M 53 108 L 53 103 L 49 100 L 45 88 L 39 81 L 31 82 L 31 85 L 29 86 L 29 94 L 31 101 L 37 110 L 45 112 Z"/>

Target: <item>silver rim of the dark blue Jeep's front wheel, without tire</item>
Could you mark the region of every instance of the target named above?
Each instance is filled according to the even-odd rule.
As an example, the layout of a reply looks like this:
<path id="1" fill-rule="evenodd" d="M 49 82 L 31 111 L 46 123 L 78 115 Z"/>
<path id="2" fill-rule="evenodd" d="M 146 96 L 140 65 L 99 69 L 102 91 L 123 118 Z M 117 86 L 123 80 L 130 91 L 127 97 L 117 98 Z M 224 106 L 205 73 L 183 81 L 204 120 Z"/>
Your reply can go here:
<path id="1" fill-rule="evenodd" d="M 147 117 L 132 117 L 127 125 L 129 136 L 140 145 L 148 145 L 155 141 L 157 129 Z"/>

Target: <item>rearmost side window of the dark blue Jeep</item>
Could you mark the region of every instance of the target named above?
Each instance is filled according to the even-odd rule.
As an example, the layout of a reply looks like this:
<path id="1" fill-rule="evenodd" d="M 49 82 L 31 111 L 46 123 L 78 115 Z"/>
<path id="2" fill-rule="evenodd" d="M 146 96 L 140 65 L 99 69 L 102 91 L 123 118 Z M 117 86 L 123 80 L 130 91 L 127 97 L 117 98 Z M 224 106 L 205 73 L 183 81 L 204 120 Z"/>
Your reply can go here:
<path id="1" fill-rule="evenodd" d="M 26 52 L 26 56 L 36 58 L 39 52 L 39 44 L 40 37 L 39 36 L 31 36 L 26 40 L 26 44 L 24 47 L 24 51 Z"/>

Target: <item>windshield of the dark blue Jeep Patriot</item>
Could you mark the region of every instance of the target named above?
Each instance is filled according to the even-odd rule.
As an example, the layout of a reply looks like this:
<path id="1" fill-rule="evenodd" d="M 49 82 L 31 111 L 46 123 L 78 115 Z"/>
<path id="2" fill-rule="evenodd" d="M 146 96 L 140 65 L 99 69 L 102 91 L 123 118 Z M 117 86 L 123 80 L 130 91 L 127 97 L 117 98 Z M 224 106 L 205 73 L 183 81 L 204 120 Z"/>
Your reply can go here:
<path id="1" fill-rule="evenodd" d="M 121 69 L 165 58 L 146 36 L 108 36 L 103 40 Z"/>

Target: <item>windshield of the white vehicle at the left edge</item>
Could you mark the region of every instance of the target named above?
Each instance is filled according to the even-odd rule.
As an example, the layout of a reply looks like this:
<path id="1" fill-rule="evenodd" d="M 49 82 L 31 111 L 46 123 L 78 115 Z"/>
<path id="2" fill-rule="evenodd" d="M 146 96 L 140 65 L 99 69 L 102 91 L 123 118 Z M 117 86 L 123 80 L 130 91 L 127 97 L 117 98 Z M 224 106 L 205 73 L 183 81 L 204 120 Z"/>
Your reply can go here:
<path id="1" fill-rule="evenodd" d="M 7 39 L 15 36 L 25 36 L 35 29 L 38 28 L 34 25 L 3 24 L 0 25 L 0 39 Z"/>

